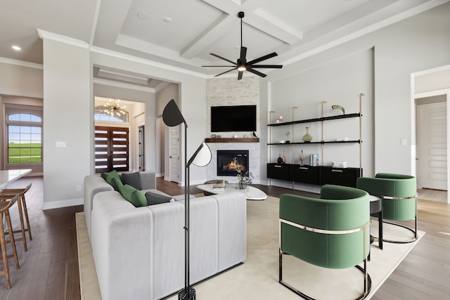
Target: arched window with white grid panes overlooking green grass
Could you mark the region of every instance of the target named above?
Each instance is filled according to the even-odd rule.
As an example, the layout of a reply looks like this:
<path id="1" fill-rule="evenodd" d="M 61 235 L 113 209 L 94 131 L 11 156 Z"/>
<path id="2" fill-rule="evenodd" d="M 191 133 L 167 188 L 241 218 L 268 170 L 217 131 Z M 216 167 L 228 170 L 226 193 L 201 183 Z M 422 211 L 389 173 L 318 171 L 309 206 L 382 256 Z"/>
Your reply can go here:
<path id="1" fill-rule="evenodd" d="M 42 118 L 28 112 L 12 112 L 6 117 L 8 163 L 42 162 Z"/>

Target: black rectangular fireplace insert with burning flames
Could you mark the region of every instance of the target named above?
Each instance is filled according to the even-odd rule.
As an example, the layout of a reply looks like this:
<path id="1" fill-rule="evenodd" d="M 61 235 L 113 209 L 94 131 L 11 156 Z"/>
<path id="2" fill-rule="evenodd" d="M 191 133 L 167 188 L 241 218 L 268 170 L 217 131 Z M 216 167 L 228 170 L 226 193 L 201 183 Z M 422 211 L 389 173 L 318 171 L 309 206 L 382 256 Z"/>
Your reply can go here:
<path id="1" fill-rule="evenodd" d="M 217 176 L 236 176 L 233 159 L 236 157 L 243 173 L 249 171 L 248 150 L 217 150 Z"/>

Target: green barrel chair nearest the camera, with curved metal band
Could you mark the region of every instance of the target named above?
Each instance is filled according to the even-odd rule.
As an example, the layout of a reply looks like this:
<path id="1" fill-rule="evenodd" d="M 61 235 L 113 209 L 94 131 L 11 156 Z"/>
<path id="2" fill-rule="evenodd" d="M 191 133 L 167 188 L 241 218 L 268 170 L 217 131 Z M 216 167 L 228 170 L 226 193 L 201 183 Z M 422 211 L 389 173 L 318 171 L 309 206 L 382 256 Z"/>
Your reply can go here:
<path id="1" fill-rule="evenodd" d="M 323 185 L 320 199 L 283 194 L 280 197 L 279 282 L 283 281 L 283 254 L 323 268 L 356 267 L 364 273 L 364 299 L 371 290 L 366 262 L 370 247 L 368 193 L 339 185 Z M 364 261 L 364 268 L 358 266 Z M 318 278 L 319 279 L 319 278 Z"/>

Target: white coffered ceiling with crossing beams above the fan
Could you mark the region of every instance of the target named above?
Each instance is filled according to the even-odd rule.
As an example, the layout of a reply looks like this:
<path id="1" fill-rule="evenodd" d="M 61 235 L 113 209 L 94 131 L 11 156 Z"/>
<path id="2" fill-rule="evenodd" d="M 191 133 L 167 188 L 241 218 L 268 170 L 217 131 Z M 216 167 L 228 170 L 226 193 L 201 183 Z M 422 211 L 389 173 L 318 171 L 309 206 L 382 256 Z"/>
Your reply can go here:
<path id="1" fill-rule="evenodd" d="M 228 65 L 209 53 L 236 61 L 240 47 L 237 15 L 243 11 L 243 46 L 248 48 L 248 60 L 276 51 L 278 56 L 264 63 L 288 65 L 447 1 L 8 0 L 0 2 L 0 61 L 6 58 L 42 64 L 37 30 L 44 30 L 79 39 L 91 48 L 198 74 L 219 74 L 228 68 L 201 66 Z M 172 22 L 165 22 L 166 17 Z M 14 51 L 13 44 L 23 50 Z M 103 74 L 99 76 L 103 78 L 120 76 L 101 69 L 94 73 Z M 148 86 L 149 82 L 142 77 L 138 84 Z M 153 86 L 158 84 L 153 82 Z"/>

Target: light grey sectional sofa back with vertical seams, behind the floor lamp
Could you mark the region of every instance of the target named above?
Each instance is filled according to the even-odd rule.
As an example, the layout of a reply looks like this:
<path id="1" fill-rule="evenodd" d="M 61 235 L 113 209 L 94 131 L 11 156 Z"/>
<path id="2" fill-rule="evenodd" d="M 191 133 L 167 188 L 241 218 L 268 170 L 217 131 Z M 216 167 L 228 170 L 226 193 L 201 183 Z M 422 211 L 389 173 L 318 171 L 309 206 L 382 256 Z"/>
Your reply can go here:
<path id="1" fill-rule="evenodd" d="M 87 181 L 94 190 L 101 185 L 92 176 Z M 90 238 L 103 300 L 161 299 L 184 287 L 185 204 L 181 199 L 134 207 L 120 193 L 108 190 L 85 200 L 85 210 L 91 209 Z M 246 203 L 238 192 L 190 202 L 194 283 L 245 261 Z"/>

